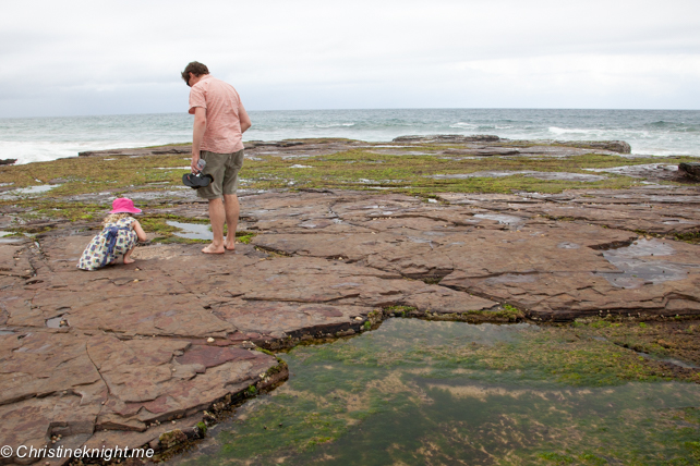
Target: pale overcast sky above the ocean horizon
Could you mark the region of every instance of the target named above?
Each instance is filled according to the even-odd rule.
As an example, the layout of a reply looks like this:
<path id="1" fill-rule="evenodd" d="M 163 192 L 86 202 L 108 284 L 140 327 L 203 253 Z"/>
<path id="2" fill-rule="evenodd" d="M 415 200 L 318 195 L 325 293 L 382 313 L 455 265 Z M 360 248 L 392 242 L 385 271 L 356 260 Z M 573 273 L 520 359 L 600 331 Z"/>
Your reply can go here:
<path id="1" fill-rule="evenodd" d="M 698 0 L 0 2 L 0 118 L 249 110 L 700 109 Z"/>

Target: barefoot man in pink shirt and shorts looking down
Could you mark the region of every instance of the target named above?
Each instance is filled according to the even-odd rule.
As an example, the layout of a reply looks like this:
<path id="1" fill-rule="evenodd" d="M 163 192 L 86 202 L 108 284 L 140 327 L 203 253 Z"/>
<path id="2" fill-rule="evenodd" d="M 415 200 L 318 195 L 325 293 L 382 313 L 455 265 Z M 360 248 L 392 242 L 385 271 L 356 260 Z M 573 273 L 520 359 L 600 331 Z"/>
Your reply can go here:
<path id="1" fill-rule="evenodd" d="M 193 61 L 182 72 L 190 90 L 192 131 L 192 172 L 200 171 L 200 158 L 206 161 L 203 174 L 214 182 L 197 189 L 197 196 L 209 200 L 209 221 L 214 241 L 202 249 L 205 254 L 224 254 L 236 248 L 236 229 L 240 211 L 236 188 L 243 165 L 243 133 L 251 119 L 241 98 L 230 84 L 209 76 L 206 65 Z M 224 222 L 228 234 L 224 238 Z"/>

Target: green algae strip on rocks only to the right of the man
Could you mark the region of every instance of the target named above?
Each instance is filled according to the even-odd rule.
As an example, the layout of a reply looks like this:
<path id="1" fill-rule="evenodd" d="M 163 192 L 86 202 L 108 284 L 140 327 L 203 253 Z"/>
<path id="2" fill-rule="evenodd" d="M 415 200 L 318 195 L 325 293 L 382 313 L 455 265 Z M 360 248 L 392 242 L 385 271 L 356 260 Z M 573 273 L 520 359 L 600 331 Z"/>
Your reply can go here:
<path id="1" fill-rule="evenodd" d="M 445 148 L 445 147 L 443 147 Z M 484 170 L 499 171 L 538 170 L 588 173 L 586 168 L 633 164 L 617 156 L 583 155 L 534 160 L 530 157 L 488 157 L 470 160 L 454 160 L 433 155 L 386 155 L 365 149 L 352 149 L 330 156 L 311 158 L 310 168 L 289 168 L 294 160 L 278 157 L 262 157 L 248 162 L 241 176 L 246 186 L 255 188 L 294 187 L 369 189 L 384 187 L 393 192 L 409 192 L 415 195 L 436 192 L 510 193 L 515 191 L 560 193 L 566 188 L 599 187 L 621 188 L 639 184 L 628 176 L 607 175 L 608 179 L 592 183 L 576 181 L 545 181 L 523 175 L 503 177 L 470 177 L 436 180 L 436 174 L 463 174 Z"/>

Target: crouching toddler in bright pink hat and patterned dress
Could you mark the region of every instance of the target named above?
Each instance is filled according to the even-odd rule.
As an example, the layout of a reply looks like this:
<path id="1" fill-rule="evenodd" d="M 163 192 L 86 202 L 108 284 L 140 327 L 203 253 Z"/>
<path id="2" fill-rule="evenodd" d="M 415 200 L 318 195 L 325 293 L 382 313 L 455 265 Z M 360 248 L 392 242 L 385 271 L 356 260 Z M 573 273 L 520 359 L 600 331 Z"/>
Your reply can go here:
<path id="1" fill-rule="evenodd" d="M 102 231 L 89 242 L 77 267 L 83 270 L 97 270 L 124 255 L 124 263 L 133 263 L 131 253 L 138 241 L 146 241 L 141 224 L 130 213 L 140 213 L 134 201 L 120 197 L 112 203 L 112 210 L 102 221 Z"/>

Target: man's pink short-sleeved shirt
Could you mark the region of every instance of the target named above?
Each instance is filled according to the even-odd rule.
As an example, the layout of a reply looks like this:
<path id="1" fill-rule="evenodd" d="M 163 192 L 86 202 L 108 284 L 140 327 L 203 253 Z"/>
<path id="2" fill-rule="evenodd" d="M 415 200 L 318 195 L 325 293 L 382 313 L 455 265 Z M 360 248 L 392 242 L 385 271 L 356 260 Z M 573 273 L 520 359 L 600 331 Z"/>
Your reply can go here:
<path id="1" fill-rule="evenodd" d="M 200 150 L 231 154 L 243 149 L 239 109 L 241 98 L 230 84 L 208 74 L 190 90 L 190 113 L 206 109 L 206 130 Z"/>

